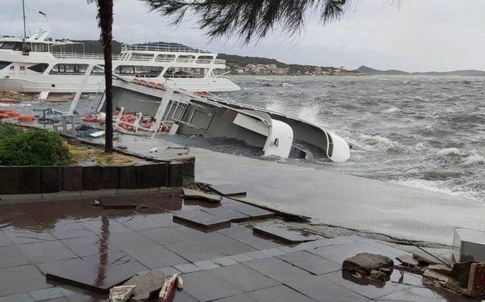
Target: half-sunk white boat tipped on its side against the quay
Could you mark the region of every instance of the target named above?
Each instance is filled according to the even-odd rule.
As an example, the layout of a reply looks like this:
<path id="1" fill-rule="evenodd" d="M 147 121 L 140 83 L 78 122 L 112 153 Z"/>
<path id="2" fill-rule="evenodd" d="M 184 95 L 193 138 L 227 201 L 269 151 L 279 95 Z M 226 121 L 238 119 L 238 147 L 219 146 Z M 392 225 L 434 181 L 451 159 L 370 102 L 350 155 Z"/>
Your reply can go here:
<path id="1" fill-rule="evenodd" d="M 235 138 L 260 148 L 266 157 L 328 158 L 335 162 L 350 158 L 345 140 L 284 113 L 121 77 L 113 79 L 112 95 L 113 108 L 121 109 L 114 118 L 119 131 L 148 131 L 152 137 L 157 133 L 181 133 Z M 98 111 L 103 111 L 103 106 L 101 99 Z"/>

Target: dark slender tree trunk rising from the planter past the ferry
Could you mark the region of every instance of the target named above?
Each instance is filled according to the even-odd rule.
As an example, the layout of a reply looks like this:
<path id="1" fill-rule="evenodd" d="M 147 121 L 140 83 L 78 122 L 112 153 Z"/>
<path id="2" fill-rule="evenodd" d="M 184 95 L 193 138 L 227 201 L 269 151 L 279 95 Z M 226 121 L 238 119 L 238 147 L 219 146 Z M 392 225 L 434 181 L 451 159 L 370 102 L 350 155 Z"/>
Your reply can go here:
<path id="1" fill-rule="evenodd" d="M 106 133 L 104 151 L 113 151 L 113 103 L 112 103 L 112 24 L 113 0 L 98 1 L 99 26 L 101 27 L 101 40 L 103 42 L 104 75 L 106 82 Z"/>

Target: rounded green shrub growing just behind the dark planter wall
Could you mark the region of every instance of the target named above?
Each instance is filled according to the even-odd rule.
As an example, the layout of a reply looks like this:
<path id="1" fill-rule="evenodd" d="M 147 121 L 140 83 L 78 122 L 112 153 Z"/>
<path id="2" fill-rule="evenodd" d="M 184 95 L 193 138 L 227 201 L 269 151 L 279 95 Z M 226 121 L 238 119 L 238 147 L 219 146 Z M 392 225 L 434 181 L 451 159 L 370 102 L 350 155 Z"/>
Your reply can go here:
<path id="1" fill-rule="evenodd" d="M 63 166 L 72 159 L 61 135 L 33 130 L 0 140 L 0 164 L 4 166 Z"/>

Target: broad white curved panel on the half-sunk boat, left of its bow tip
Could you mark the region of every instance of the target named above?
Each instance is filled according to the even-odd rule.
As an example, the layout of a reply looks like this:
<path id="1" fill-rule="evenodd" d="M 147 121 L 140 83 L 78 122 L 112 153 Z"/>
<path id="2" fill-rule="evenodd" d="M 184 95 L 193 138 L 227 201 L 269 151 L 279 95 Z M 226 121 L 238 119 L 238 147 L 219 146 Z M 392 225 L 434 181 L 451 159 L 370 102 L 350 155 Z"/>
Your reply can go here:
<path id="1" fill-rule="evenodd" d="M 288 158 L 293 144 L 293 129 L 279 120 L 272 120 L 270 133 L 264 144 L 264 156 L 279 156 Z"/>

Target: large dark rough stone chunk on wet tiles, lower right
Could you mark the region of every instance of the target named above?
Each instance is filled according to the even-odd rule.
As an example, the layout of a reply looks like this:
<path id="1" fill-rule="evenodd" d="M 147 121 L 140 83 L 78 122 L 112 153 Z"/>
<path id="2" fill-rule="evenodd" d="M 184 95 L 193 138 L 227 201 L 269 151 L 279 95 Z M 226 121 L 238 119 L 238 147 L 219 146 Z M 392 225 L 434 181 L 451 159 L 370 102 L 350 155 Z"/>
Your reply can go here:
<path id="1" fill-rule="evenodd" d="M 342 268 L 348 272 L 358 272 L 369 276 L 373 270 L 379 271 L 382 267 L 389 268 L 394 265 L 394 261 L 378 254 L 360 253 L 344 260 Z"/>

